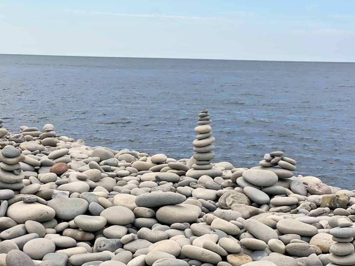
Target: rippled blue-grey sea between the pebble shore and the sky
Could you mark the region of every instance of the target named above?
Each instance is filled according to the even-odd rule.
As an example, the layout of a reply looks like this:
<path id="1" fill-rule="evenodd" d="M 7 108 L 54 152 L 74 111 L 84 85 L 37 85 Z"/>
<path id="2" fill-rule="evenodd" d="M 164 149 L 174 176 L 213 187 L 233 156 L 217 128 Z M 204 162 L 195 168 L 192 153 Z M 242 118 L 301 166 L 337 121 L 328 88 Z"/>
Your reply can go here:
<path id="1" fill-rule="evenodd" d="M 0 55 L 0 117 L 88 145 L 193 154 L 208 108 L 214 162 L 283 150 L 295 174 L 355 189 L 355 63 Z"/>

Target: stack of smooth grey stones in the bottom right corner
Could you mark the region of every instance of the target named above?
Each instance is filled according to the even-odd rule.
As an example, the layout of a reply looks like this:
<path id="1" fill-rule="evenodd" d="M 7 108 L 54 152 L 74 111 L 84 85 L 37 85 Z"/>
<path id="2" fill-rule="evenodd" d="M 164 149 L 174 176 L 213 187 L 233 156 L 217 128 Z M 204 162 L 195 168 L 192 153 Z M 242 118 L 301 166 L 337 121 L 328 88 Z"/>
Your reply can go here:
<path id="1" fill-rule="evenodd" d="M 338 217 L 333 217 L 333 220 L 338 218 L 334 221 L 334 225 L 328 222 L 331 226 L 336 226 L 329 231 L 329 234 L 333 236 L 332 240 L 336 243 L 331 245 L 328 259 L 332 265 L 354 265 L 355 249 L 351 242 L 354 240 L 355 228 L 352 227 L 353 222 L 348 217 Z"/>

